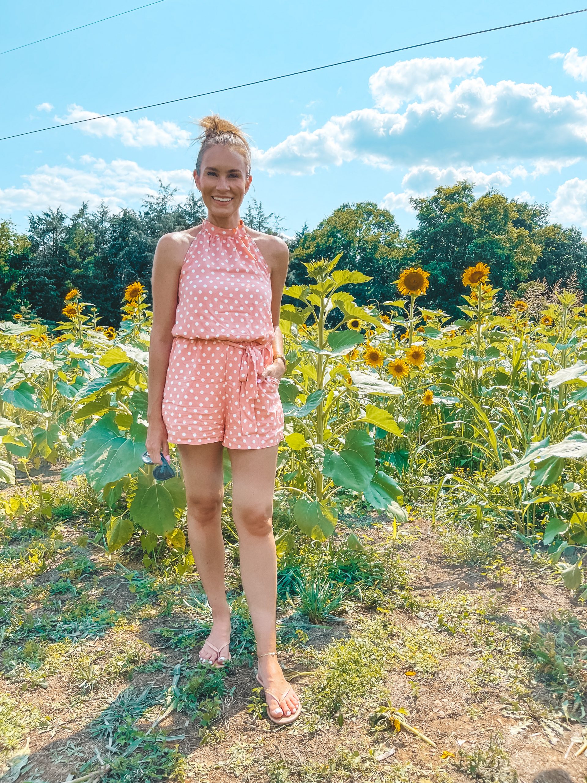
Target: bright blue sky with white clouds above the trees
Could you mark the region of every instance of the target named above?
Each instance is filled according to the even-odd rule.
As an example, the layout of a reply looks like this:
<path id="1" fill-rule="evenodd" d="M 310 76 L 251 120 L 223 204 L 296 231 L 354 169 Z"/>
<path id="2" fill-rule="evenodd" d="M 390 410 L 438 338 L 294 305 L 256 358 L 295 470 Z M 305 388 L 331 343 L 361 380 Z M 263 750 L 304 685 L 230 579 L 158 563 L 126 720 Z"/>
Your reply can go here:
<path id="1" fill-rule="evenodd" d="M 5 3 L 0 50 L 140 5 Z M 0 135 L 581 7 L 571 0 L 159 5 L 0 56 Z M 221 9 L 221 10 L 220 10 Z M 587 231 L 587 13 L 427 46 L 0 143 L 0 218 L 182 197 L 192 121 L 217 111 L 254 146 L 250 193 L 310 228 L 345 201 L 415 224 L 409 197 L 473 179 Z"/>

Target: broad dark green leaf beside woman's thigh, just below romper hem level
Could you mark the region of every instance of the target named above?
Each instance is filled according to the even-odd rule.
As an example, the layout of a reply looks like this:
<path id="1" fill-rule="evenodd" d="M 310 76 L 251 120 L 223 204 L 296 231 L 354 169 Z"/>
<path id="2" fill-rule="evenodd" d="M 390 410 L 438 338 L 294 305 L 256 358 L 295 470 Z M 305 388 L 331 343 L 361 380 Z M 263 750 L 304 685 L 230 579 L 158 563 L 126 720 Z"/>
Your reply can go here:
<path id="1" fill-rule="evenodd" d="M 338 486 L 364 492 L 375 474 L 375 442 L 363 430 L 349 430 L 340 452 L 324 449 L 323 473 Z"/>

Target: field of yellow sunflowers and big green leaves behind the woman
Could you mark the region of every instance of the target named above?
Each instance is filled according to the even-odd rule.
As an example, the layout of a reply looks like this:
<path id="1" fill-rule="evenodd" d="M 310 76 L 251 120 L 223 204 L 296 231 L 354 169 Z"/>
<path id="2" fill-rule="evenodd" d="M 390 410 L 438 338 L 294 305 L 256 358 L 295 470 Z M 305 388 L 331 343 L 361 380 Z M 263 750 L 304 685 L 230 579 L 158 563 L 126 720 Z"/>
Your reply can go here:
<path id="1" fill-rule="evenodd" d="M 398 299 L 360 308 L 344 290 L 370 280 L 305 264 L 312 284 L 285 293 L 286 417 L 275 503 L 315 541 L 333 536 L 349 500 L 407 521 L 425 503 L 432 521 L 505 529 L 539 547 L 580 591 L 587 546 L 587 310 L 574 290 L 510 294 L 491 269 L 463 270 L 463 316 L 427 309 L 428 273 L 405 269 Z M 121 328 L 101 327 L 73 289 L 49 333 L 15 316 L 0 324 L 0 480 L 27 487 L 0 501 L 11 520 L 49 519 L 59 506 L 43 465 L 104 511 L 110 552 L 142 548 L 147 567 L 193 565 L 178 475 L 153 479 L 146 438 L 151 312 L 128 286 Z M 172 451 L 173 453 L 173 451 Z M 39 476 L 39 478 L 36 478 Z M 225 485 L 230 463 L 225 456 Z M 291 536 L 279 540 L 283 553 Z"/>

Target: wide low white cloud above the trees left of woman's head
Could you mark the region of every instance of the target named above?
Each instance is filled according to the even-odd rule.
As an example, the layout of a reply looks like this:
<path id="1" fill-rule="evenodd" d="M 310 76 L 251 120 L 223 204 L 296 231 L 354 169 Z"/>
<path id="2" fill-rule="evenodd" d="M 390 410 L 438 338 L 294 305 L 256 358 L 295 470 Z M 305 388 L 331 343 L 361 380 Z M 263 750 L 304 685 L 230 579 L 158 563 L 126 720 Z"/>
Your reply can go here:
<path id="1" fill-rule="evenodd" d="M 79 167 L 40 166 L 32 174 L 23 175 L 22 185 L 0 189 L 0 209 L 35 212 L 61 207 L 73 211 L 82 202 L 87 201 L 90 209 L 95 209 L 103 201 L 117 211 L 154 196 L 159 181 L 177 187 L 178 197 L 184 196 L 193 176 L 187 169 L 157 171 L 142 168 L 135 161 L 106 163 L 88 155 L 78 163 Z"/>

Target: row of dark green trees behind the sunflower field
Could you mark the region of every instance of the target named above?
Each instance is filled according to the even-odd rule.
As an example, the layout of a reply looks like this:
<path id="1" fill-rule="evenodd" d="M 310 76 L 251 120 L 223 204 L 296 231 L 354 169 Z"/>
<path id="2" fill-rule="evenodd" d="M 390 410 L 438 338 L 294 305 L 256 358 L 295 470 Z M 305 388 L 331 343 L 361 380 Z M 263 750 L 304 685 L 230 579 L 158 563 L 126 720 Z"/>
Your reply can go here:
<path id="1" fill-rule="evenodd" d="M 456 314 L 463 287 L 460 272 L 478 262 L 492 269 L 495 287 L 515 290 L 529 280 L 557 281 L 587 290 L 587 243 L 579 229 L 549 222 L 548 207 L 508 199 L 497 190 L 474 196 L 471 182 L 438 187 L 412 199 L 416 228 L 403 233 L 390 211 L 370 201 L 342 204 L 309 230 L 287 239 L 287 283 L 308 282 L 303 262 L 342 253 L 339 268 L 373 279 L 351 290 L 361 305 L 397 298 L 394 281 L 406 266 L 430 272 L 427 307 Z M 153 253 L 164 233 L 200 223 L 206 208 L 194 193 L 178 204 L 160 186 L 138 210 L 112 212 L 106 205 L 74 215 L 51 209 L 30 215 L 26 234 L 0 220 L 0 319 L 16 313 L 49 323 L 62 319 L 63 297 L 72 287 L 99 310 L 103 326 L 117 327 L 124 289 L 138 280 L 149 290 Z M 251 200 L 247 226 L 280 233 L 282 218 Z M 287 298 L 286 300 L 287 301 Z"/>

